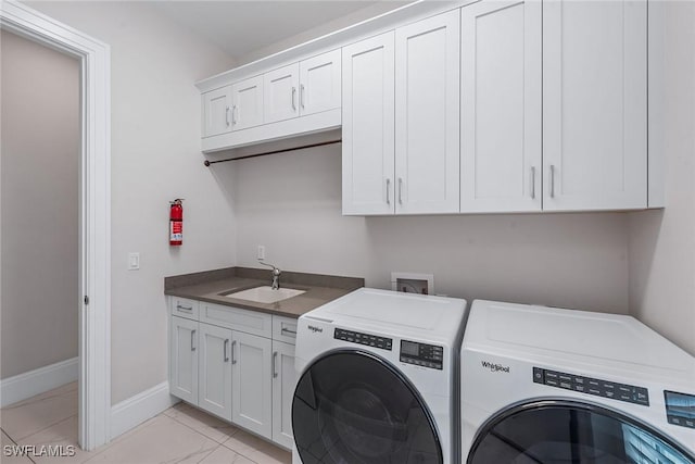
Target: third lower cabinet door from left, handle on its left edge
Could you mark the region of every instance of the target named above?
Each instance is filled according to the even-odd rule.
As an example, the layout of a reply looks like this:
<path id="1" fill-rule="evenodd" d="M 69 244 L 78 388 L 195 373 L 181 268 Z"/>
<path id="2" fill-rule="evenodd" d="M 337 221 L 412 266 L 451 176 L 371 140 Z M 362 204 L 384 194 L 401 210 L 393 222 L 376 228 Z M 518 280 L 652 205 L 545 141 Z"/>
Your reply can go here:
<path id="1" fill-rule="evenodd" d="M 271 342 L 232 333 L 232 422 L 271 438 Z"/>

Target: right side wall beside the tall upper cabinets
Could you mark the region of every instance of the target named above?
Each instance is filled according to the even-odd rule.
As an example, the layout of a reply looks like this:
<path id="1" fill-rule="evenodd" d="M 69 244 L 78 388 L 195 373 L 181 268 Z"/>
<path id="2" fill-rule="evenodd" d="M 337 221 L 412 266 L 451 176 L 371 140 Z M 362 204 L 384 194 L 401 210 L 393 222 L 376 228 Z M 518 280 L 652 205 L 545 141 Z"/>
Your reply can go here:
<path id="1" fill-rule="evenodd" d="M 630 215 L 630 313 L 695 355 L 695 3 L 666 14 L 666 209 Z"/>

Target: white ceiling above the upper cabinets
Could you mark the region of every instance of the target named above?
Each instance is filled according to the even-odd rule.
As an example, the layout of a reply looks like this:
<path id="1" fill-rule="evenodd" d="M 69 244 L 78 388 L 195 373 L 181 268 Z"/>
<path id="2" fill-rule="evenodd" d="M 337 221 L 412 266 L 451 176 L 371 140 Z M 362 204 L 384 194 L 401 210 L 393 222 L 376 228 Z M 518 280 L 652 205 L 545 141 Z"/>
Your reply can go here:
<path id="1" fill-rule="evenodd" d="M 227 0 L 153 1 L 161 13 L 240 59 L 283 39 L 306 33 L 358 10 L 402 1 L 371 0 Z"/>

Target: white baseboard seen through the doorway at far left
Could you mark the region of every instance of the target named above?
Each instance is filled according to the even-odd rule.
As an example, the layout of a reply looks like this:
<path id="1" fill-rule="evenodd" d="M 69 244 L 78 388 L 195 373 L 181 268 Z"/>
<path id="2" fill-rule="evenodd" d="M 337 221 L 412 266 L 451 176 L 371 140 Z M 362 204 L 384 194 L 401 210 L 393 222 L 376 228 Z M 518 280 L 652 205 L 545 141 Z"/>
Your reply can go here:
<path id="1" fill-rule="evenodd" d="M 79 359 L 73 358 L 0 380 L 0 406 L 4 407 L 75 381 L 78 367 Z"/>

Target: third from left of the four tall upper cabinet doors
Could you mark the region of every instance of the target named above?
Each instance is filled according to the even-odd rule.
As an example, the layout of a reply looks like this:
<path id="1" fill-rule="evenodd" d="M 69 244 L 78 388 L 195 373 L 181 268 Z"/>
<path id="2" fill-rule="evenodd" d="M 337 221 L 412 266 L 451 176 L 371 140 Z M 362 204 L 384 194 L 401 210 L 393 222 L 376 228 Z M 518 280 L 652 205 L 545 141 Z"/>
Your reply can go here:
<path id="1" fill-rule="evenodd" d="M 462 9 L 460 211 L 541 210 L 541 2 Z"/>

